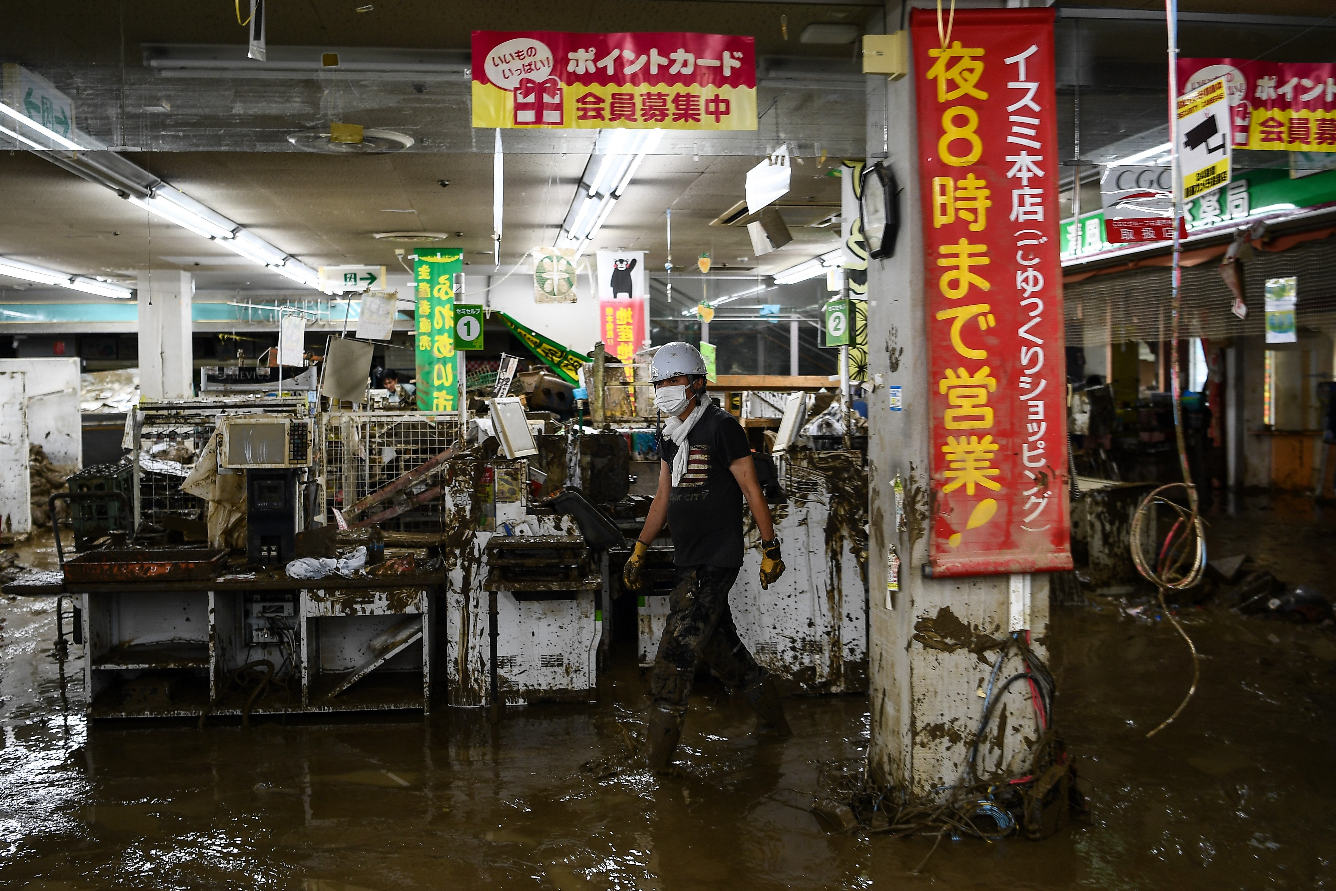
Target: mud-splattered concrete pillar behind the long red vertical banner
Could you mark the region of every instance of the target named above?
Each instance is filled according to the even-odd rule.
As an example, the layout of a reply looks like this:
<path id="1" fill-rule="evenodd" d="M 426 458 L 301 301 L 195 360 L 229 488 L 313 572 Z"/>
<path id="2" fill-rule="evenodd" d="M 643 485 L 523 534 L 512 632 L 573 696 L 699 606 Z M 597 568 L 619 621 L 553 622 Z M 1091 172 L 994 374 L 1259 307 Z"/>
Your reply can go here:
<path id="1" fill-rule="evenodd" d="M 915 3 L 912 5 L 929 5 Z M 1002 4 L 998 4 L 1002 5 Z M 887 31 L 900 21 L 890 4 Z M 906 16 L 907 21 L 907 16 Z M 868 262 L 868 461 L 871 534 L 868 675 L 874 779 L 911 799 L 934 799 L 961 777 L 982 717 L 981 687 L 994 652 L 987 641 L 1027 625 L 1035 652 L 1049 625 L 1049 584 L 1041 574 L 929 578 L 927 526 L 930 403 L 925 256 L 914 85 L 916 75 L 888 81 L 868 76 L 867 160 L 887 159 L 900 188 L 895 255 Z M 887 126 L 883 122 L 890 122 Z M 892 410 L 892 405 L 898 410 Z M 896 498 L 896 481 L 903 494 Z M 899 520 L 898 520 L 899 518 Z M 899 590 L 887 590 L 888 558 L 899 558 Z M 1029 614 L 1025 588 L 1029 585 Z M 1014 592 L 1014 596 L 1013 596 Z M 1013 601 L 1021 613 L 1011 616 Z M 973 649 L 971 649 L 973 648 Z M 1006 667 L 1022 671 L 1018 661 Z M 1037 739 L 1029 691 L 1013 684 L 979 748 L 985 776 L 1007 772 Z M 1001 727 L 1001 729 L 999 729 Z"/>

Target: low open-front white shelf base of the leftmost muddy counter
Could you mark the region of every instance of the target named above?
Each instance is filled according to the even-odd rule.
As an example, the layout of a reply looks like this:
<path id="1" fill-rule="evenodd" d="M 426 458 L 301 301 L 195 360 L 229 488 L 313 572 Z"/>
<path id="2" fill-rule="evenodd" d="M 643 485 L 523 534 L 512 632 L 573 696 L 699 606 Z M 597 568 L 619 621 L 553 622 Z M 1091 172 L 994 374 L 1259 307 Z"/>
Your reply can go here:
<path id="1" fill-rule="evenodd" d="M 92 717 L 430 708 L 440 574 L 321 588 L 274 570 L 204 582 L 57 581 L 33 574 L 7 593 L 81 601 Z"/>

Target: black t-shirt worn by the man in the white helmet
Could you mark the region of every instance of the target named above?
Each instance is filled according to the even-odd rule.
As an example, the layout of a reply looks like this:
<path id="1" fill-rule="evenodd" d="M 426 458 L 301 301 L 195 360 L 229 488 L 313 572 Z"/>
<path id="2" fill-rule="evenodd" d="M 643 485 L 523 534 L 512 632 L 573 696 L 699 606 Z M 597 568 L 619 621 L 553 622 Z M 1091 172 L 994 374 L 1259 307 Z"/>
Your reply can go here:
<path id="1" fill-rule="evenodd" d="M 743 565 L 743 490 L 728 469 L 751 454 L 737 418 L 712 403 L 687 437 L 687 472 L 668 496 L 668 528 L 679 566 Z M 669 473 L 677 443 L 663 435 L 659 457 Z"/>

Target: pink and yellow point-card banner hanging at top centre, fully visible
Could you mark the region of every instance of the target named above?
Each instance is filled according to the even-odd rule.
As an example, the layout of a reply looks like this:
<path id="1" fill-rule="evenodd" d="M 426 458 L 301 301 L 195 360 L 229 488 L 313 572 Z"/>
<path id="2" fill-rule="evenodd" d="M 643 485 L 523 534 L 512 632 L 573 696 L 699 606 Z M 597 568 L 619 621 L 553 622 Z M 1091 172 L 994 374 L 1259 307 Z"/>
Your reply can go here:
<path id="1" fill-rule="evenodd" d="M 474 31 L 473 126 L 756 130 L 754 40 Z"/>

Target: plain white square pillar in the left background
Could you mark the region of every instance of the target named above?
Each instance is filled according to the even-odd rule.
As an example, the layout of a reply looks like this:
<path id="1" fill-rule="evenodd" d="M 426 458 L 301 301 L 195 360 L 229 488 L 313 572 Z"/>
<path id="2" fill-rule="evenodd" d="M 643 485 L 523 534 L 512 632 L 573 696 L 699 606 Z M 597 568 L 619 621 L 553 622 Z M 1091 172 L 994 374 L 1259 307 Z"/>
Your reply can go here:
<path id="1" fill-rule="evenodd" d="M 139 270 L 139 391 L 148 399 L 191 395 L 191 302 L 195 281 L 178 270 Z"/>

